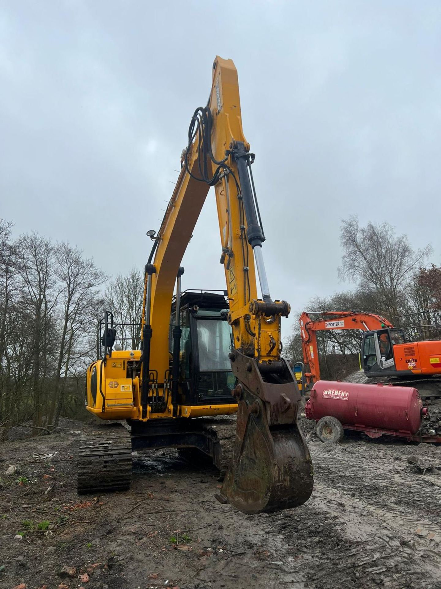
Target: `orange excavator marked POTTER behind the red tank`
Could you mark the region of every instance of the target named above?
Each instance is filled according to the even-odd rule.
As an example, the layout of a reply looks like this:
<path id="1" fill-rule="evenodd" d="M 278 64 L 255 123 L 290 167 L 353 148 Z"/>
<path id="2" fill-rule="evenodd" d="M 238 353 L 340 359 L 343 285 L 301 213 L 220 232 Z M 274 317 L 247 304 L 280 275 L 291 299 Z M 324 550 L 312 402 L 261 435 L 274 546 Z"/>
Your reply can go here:
<path id="1" fill-rule="evenodd" d="M 318 315 L 311 319 L 310 315 Z M 403 379 L 426 379 L 441 389 L 441 341 L 406 342 L 402 329 L 373 313 L 352 311 L 303 312 L 299 318 L 302 336 L 303 362 L 308 366 L 303 376 L 306 389 L 320 380 L 319 354 L 316 332 L 321 330 L 358 329 L 363 332 L 360 351 L 360 369 L 368 378 L 393 378 L 397 384 Z M 418 384 L 420 388 L 420 384 Z M 440 391 L 434 391 L 439 396 Z"/>

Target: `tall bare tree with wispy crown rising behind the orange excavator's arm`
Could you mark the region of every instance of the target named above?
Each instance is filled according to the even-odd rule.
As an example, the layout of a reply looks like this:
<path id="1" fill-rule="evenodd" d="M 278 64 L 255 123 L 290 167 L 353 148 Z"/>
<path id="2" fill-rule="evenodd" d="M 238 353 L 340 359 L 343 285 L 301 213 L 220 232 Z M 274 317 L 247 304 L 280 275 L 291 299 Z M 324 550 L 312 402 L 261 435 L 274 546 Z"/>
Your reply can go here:
<path id="1" fill-rule="evenodd" d="M 430 245 L 415 251 L 407 236 L 396 236 L 389 223 L 360 227 L 355 216 L 342 221 L 340 242 L 340 279 L 358 282 L 364 292 L 375 293 L 389 319 L 399 316 L 403 290 L 431 252 Z"/>

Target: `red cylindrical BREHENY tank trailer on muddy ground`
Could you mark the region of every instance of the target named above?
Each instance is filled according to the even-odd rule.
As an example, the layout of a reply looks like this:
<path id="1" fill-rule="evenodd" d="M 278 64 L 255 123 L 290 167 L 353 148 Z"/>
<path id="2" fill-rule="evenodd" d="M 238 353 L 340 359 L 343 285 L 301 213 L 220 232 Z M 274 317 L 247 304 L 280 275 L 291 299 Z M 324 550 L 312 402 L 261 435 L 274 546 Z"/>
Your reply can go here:
<path id="1" fill-rule="evenodd" d="M 318 380 L 305 406 L 306 418 L 318 422 L 316 431 L 322 441 L 339 441 L 345 429 L 352 429 L 371 438 L 392 435 L 441 442 L 438 436 L 423 434 L 422 418 L 426 414 L 413 387 L 333 380 Z"/>

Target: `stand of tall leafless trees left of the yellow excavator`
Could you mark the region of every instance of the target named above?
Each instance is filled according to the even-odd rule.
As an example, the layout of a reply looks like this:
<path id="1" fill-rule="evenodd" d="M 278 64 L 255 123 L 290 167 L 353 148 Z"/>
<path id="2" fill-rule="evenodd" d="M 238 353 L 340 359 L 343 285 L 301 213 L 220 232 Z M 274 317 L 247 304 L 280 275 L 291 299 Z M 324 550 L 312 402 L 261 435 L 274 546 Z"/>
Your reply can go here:
<path id="1" fill-rule="evenodd" d="M 83 411 L 106 279 L 78 248 L 36 233 L 13 240 L 11 226 L 0 220 L 0 439 L 17 423 L 32 419 L 38 433 L 44 418 Z"/>

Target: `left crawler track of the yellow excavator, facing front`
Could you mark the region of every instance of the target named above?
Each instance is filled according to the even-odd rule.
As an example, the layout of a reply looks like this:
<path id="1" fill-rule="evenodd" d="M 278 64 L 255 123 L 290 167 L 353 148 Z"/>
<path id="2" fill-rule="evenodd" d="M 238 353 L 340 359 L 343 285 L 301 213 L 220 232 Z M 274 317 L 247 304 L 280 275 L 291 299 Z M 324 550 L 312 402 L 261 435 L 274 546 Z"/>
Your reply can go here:
<path id="1" fill-rule="evenodd" d="M 132 481 L 132 442 L 121 423 L 84 426 L 78 452 L 78 492 L 125 491 Z"/>

